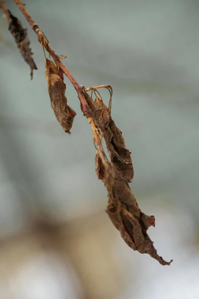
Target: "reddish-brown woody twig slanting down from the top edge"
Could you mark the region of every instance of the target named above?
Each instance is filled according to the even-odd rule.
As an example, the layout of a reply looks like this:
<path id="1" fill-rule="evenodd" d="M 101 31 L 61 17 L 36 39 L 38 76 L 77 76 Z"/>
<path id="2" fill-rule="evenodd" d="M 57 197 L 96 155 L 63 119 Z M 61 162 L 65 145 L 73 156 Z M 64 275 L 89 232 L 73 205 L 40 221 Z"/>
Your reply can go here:
<path id="1" fill-rule="evenodd" d="M 73 84 L 75 90 L 77 91 L 78 98 L 80 99 L 81 102 L 81 109 L 83 114 L 88 118 L 89 115 L 91 114 L 91 109 L 89 105 L 87 104 L 87 101 L 84 96 L 84 86 L 80 85 L 75 78 L 72 76 L 72 74 L 69 72 L 69 70 L 65 67 L 65 65 L 61 62 L 60 58 L 66 58 L 66 56 L 63 55 L 57 55 L 55 51 L 51 48 L 49 41 L 47 40 L 46 36 L 44 33 L 40 30 L 39 26 L 37 23 L 31 18 L 27 10 L 25 9 L 25 4 L 22 3 L 20 0 L 14 0 L 18 8 L 21 10 L 23 13 L 24 17 L 32 27 L 32 29 L 37 33 L 38 40 L 42 44 L 42 46 L 45 47 L 45 49 L 49 52 L 49 54 L 53 57 L 59 68 L 63 71 L 63 73 L 68 77 L 70 82 Z"/>

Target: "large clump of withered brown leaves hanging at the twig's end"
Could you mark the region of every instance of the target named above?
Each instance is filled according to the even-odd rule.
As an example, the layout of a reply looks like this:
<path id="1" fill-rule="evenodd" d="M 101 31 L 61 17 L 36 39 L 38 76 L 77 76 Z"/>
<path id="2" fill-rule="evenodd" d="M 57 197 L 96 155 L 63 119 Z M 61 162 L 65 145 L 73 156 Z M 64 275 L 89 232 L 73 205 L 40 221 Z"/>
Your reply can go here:
<path id="1" fill-rule="evenodd" d="M 96 173 L 108 191 L 106 213 L 130 248 L 140 253 L 148 253 L 162 265 L 170 265 L 172 261 L 166 262 L 157 254 L 147 234 L 147 229 L 155 226 L 155 217 L 141 212 L 128 185 L 133 178 L 133 166 L 121 131 L 115 126 L 110 110 L 102 99 L 96 97 L 93 100 L 88 93 L 85 97 L 92 110 L 91 118 L 96 128 L 94 135 L 97 145 Z M 111 162 L 105 156 L 101 137 L 105 140 Z"/>

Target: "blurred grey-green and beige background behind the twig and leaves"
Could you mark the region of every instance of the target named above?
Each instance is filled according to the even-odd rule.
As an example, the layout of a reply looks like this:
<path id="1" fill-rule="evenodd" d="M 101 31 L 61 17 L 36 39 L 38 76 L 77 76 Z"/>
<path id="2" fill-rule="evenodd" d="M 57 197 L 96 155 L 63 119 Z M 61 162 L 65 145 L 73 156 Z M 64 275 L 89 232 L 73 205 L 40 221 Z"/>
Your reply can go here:
<path id="1" fill-rule="evenodd" d="M 69 136 L 50 106 L 45 58 L 30 81 L 0 12 L 0 299 L 199 298 L 199 1 L 34 0 L 26 9 L 77 81 L 110 84 L 112 118 L 132 151 L 131 188 L 159 255 L 132 251 L 105 213 L 92 130 Z M 108 92 L 102 92 L 108 104 Z"/>

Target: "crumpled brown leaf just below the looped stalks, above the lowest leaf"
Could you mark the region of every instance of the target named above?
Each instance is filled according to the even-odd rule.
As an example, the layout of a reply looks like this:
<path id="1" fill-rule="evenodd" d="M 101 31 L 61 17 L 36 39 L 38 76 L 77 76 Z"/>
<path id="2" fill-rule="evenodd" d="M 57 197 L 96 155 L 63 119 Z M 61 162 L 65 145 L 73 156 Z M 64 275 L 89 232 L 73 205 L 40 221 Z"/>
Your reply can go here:
<path id="1" fill-rule="evenodd" d="M 94 101 L 88 93 L 84 95 L 92 111 L 95 125 L 103 134 L 112 164 L 121 172 L 127 182 L 131 182 L 133 179 L 131 152 L 125 147 L 122 132 L 116 127 L 108 108 L 98 97 Z"/>

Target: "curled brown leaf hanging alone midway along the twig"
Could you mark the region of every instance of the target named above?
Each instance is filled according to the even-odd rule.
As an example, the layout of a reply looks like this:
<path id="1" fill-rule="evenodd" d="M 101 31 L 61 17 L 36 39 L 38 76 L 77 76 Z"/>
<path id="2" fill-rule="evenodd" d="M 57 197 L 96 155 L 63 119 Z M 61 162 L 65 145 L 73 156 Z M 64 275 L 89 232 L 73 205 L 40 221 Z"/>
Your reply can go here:
<path id="1" fill-rule="evenodd" d="M 46 59 L 45 76 L 54 114 L 64 131 L 71 134 L 70 130 L 76 113 L 67 105 L 63 72 L 53 61 Z"/>

